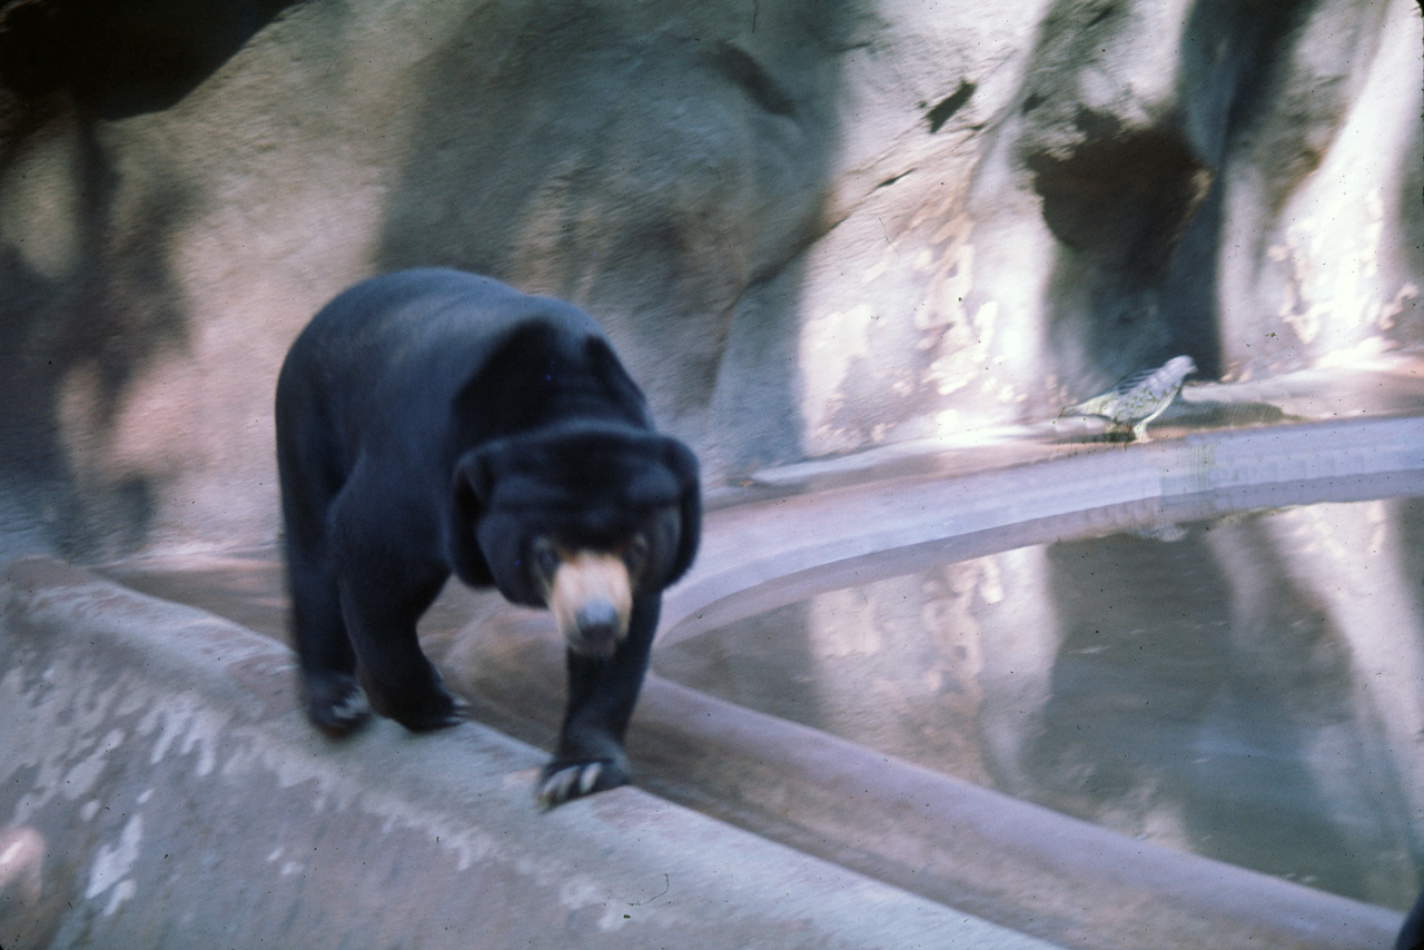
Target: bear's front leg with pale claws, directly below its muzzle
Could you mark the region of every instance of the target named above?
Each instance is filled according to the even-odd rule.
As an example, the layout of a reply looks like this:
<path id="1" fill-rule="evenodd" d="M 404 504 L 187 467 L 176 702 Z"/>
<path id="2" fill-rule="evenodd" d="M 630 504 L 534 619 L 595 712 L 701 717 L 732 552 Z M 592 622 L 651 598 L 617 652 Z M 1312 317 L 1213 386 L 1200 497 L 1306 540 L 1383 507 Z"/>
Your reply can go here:
<path id="1" fill-rule="evenodd" d="M 661 594 L 635 600 L 628 637 L 608 659 L 567 654 L 568 706 L 554 759 L 540 776 L 540 808 L 627 785 L 622 741 L 648 672 L 661 608 Z"/>

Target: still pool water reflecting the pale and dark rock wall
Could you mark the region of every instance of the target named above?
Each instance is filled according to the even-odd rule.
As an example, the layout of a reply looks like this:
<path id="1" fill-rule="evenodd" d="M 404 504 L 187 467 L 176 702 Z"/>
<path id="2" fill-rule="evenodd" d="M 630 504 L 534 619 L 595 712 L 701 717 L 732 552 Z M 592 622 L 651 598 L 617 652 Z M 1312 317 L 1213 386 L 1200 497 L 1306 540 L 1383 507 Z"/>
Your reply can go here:
<path id="1" fill-rule="evenodd" d="M 1424 506 L 1020 548 L 668 647 L 664 675 L 1128 835 L 1407 907 Z"/>

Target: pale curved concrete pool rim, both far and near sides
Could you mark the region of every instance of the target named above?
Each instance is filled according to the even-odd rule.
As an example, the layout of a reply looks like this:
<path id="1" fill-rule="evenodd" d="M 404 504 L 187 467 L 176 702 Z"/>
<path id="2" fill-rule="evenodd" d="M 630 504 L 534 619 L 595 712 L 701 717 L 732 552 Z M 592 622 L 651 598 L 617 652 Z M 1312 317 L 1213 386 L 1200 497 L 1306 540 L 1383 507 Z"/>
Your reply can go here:
<path id="1" fill-rule="evenodd" d="M 1420 417 L 1210 433 L 779 499 L 718 513 L 658 642 L 1054 538 L 1403 494 L 1424 494 Z M 637 722 L 632 751 L 655 765 L 655 790 L 1068 946 L 1363 949 L 1388 946 L 1400 926 L 1394 912 L 1132 840 L 658 678 Z"/>

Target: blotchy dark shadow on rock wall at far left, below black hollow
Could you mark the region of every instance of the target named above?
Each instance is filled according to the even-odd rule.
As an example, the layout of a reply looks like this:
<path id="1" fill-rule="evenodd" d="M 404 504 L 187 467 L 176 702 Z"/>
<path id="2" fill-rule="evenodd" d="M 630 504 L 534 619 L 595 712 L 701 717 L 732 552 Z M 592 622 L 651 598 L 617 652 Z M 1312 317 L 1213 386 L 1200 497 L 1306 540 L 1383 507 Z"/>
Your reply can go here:
<path id="1" fill-rule="evenodd" d="M 93 120 L 74 111 L 50 118 L 0 152 L 0 177 L 23 174 L 17 165 L 27 147 L 67 160 L 67 179 L 56 185 L 70 192 L 71 207 L 46 222 L 61 232 L 54 236 L 67 245 L 61 254 L 0 252 L 0 402 L 7 407 L 0 516 L 10 523 L 6 534 L 23 546 L 67 558 L 134 551 L 147 536 L 155 486 L 84 479 L 74 457 L 107 450 L 105 433 L 130 382 L 159 353 L 184 345 L 165 242 L 192 214 L 191 201 L 178 188 L 151 191 L 137 215 L 142 225 L 118 235 L 118 172 Z"/>

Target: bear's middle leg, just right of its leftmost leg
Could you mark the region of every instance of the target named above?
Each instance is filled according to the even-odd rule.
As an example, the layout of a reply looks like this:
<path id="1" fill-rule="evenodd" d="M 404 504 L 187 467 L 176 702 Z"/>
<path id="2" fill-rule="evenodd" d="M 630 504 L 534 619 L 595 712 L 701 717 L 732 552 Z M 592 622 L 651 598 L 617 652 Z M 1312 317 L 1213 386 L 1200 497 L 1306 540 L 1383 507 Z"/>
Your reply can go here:
<path id="1" fill-rule="evenodd" d="M 360 684 L 376 712 L 414 732 L 456 725 L 464 706 L 444 688 L 420 651 L 416 621 L 430 607 L 446 574 L 439 568 L 343 557 L 342 615 L 350 634 Z"/>

